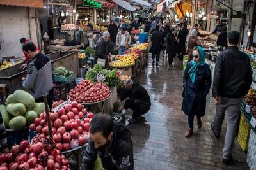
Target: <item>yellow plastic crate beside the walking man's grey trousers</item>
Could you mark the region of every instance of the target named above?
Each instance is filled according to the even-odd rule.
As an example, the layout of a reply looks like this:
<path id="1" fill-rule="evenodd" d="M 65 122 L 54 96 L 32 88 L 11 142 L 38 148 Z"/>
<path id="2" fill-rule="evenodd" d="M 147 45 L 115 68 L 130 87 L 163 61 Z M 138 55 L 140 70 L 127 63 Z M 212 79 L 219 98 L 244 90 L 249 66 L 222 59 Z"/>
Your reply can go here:
<path id="1" fill-rule="evenodd" d="M 250 136 L 250 125 L 247 118 L 242 113 L 240 124 L 239 124 L 237 141 L 244 152 L 248 150 L 249 136 Z"/>

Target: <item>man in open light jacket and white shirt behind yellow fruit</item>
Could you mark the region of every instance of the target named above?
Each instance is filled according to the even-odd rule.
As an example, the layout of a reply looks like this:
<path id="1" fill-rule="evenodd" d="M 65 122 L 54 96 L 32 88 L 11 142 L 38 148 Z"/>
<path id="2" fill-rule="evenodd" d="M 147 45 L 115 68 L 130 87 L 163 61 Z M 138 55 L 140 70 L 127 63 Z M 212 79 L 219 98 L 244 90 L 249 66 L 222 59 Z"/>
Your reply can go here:
<path id="1" fill-rule="evenodd" d="M 122 54 L 129 48 L 131 44 L 131 36 L 128 31 L 125 31 L 125 28 L 122 27 L 116 35 L 116 46 L 118 46 L 118 53 Z"/>

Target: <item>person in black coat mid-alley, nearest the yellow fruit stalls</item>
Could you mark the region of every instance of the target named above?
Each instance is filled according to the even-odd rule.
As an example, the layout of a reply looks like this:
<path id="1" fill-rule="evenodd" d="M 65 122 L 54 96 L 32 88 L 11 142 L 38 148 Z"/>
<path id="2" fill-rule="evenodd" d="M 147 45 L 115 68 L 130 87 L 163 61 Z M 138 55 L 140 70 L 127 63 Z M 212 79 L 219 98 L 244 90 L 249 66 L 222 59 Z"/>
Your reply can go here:
<path id="1" fill-rule="evenodd" d="M 163 33 L 159 31 L 158 25 L 156 25 L 156 31 L 152 33 L 150 40 L 152 41 L 152 45 L 150 47 L 149 52 L 152 53 L 153 64 L 155 64 L 155 57 L 156 57 L 156 65 L 158 65 L 160 52 L 163 49 L 163 45 L 164 45 Z"/>

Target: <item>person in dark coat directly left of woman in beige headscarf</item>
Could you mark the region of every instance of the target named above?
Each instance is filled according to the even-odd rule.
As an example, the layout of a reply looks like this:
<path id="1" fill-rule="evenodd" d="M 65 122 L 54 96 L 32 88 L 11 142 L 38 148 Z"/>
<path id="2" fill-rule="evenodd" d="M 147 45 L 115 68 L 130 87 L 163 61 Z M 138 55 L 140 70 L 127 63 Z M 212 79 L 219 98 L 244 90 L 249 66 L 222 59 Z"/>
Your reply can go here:
<path id="1" fill-rule="evenodd" d="M 177 36 L 177 39 L 179 40 L 179 59 L 183 60 L 183 55 L 186 54 L 186 39 L 187 39 L 187 35 L 189 33 L 188 29 L 187 29 L 187 25 L 181 23 L 180 24 L 181 28 L 179 31 L 179 34 Z"/>

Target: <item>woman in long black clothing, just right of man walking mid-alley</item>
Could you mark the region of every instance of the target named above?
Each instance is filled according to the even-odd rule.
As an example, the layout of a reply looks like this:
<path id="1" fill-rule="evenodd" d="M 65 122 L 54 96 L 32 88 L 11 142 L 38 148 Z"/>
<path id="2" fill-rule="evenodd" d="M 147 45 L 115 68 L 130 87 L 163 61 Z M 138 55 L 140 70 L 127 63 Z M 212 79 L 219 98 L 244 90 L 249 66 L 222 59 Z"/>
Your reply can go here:
<path id="1" fill-rule="evenodd" d="M 172 69 L 172 62 L 176 55 L 177 45 L 178 42 L 174 35 L 174 28 L 170 29 L 170 33 L 166 36 L 166 43 L 167 43 L 167 49 L 166 52 L 168 53 L 168 64 L 169 64 L 169 70 Z"/>

